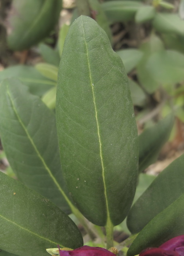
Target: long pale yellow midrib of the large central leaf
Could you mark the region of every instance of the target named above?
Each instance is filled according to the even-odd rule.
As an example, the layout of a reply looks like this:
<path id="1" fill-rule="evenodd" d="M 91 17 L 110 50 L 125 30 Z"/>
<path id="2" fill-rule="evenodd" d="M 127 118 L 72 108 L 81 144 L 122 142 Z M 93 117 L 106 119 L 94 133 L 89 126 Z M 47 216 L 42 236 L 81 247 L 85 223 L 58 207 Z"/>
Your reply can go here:
<path id="1" fill-rule="evenodd" d="M 84 28 L 83 28 L 83 33 L 84 33 Z M 105 181 L 105 167 L 104 167 L 103 155 L 102 155 L 102 143 L 101 143 L 101 138 L 100 138 L 100 127 L 99 127 L 98 112 L 97 112 L 95 93 L 94 93 L 94 84 L 93 84 L 92 77 L 91 77 L 91 67 L 90 67 L 90 62 L 89 62 L 88 47 L 87 47 L 87 42 L 85 40 L 85 37 L 84 37 L 84 41 L 85 41 L 85 45 L 86 45 L 86 53 L 87 53 L 88 68 L 89 68 L 89 78 L 90 78 L 91 89 L 92 89 L 92 94 L 93 94 L 93 103 L 94 103 L 94 107 L 95 107 L 95 118 L 96 118 L 96 125 L 97 125 L 97 134 L 98 134 L 98 138 L 99 138 L 100 160 L 101 160 L 102 178 L 103 178 L 103 184 L 104 184 L 104 195 L 105 195 L 106 207 L 107 207 L 107 223 L 108 223 L 108 222 L 111 222 L 111 220 L 110 220 L 110 213 L 109 213 L 108 200 L 107 200 L 107 189 L 106 189 L 106 181 Z"/>

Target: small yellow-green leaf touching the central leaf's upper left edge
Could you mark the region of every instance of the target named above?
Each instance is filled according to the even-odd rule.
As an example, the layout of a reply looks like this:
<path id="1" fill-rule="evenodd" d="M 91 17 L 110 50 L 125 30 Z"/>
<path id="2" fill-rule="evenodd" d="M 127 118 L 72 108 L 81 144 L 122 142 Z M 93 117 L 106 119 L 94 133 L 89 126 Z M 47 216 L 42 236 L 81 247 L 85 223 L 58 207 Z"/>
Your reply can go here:
<path id="1" fill-rule="evenodd" d="M 48 63 L 38 63 L 35 68 L 42 76 L 57 82 L 58 67 Z"/>

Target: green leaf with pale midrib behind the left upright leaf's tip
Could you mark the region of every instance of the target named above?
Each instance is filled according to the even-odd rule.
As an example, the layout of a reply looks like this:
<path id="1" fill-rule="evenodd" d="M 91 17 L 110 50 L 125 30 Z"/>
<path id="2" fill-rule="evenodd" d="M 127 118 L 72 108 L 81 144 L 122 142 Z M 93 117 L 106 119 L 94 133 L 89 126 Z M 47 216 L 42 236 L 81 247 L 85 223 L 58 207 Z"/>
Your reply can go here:
<path id="1" fill-rule="evenodd" d="M 30 93 L 38 96 L 43 95 L 56 84 L 42 76 L 34 67 L 25 65 L 16 65 L 0 71 L 0 82 L 12 77 L 18 78 L 29 87 Z"/>

